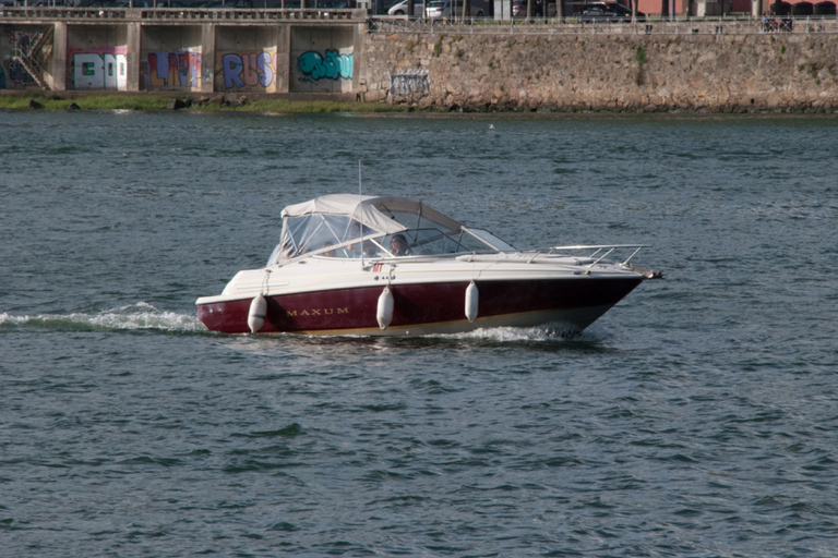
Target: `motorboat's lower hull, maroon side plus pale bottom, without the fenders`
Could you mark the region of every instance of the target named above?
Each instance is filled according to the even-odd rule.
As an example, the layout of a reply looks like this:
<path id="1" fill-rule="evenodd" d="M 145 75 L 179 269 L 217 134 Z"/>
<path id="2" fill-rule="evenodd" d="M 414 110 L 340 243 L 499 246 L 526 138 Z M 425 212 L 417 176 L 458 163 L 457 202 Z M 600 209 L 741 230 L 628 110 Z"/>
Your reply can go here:
<path id="1" fill-rule="evenodd" d="M 556 324 L 563 332 L 585 329 L 643 281 L 639 275 L 477 281 L 478 312 L 466 318 L 469 281 L 391 284 L 393 315 L 376 320 L 384 286 L 268 295 L 260 333 L 405 336 L 456 333 L 491 327 Z M 251 298 L 199 304 L 201 322 L 214 331 L 248 333 Z"/>

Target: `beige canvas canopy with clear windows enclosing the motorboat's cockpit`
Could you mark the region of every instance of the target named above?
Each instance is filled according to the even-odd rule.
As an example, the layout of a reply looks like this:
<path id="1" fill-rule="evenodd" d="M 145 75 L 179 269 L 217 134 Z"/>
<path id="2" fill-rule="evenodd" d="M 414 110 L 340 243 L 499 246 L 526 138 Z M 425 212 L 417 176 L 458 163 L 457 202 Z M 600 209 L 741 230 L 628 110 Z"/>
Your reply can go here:
<path id="1" fill-rule="evenodd" d="M 514 250 L 484 231 L 406 197 L 332 194 L 283 209 L 282 241 L 267 262 L 282 265 L 309 255 L 326 257 L 396 257 Z M 394 236 L 406 253 L 390 251 Z M 491 238 L 487 242 L 487 238 Z"/>

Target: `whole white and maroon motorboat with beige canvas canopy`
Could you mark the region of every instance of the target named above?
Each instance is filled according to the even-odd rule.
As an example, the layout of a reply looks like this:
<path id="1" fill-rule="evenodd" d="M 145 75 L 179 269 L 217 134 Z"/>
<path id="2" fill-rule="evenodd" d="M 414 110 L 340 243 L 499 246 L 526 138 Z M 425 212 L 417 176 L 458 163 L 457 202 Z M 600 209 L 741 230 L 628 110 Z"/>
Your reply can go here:
<path id="1" fill-rule="evenodd" d="M 419 336 L 585 329 L 644 279 L 642 245 L 519 251 L 412 199 L 336 194 L 286 207 L 267 265 L 197 299 L 225 333 Z M 607 259 L 623 251 L 619 262 Z"/>

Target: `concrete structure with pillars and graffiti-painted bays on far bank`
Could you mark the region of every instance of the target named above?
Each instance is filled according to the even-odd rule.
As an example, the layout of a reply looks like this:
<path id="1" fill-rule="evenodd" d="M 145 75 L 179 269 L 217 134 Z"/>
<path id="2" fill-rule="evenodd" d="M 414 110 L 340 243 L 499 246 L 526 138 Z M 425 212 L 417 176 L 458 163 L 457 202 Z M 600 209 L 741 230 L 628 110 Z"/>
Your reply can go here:
<path id="1" fill-rule="evenodd" d="M 0 8 L 0 89 L 357 89 L 367 10 Z"/>

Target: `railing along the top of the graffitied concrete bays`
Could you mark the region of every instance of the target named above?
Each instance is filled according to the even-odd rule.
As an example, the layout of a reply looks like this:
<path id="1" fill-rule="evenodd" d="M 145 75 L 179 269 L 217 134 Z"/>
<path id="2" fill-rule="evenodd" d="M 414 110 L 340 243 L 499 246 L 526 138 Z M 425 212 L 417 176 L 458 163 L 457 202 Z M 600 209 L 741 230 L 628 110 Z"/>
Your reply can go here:
<path id="1" fill-rule="evenodd" d="M 0 21 L 354 21 L 366 22 L 367 10 L 242 10 L 242 9 L 184 9 L 184 8 L 0 8 Z"/>

